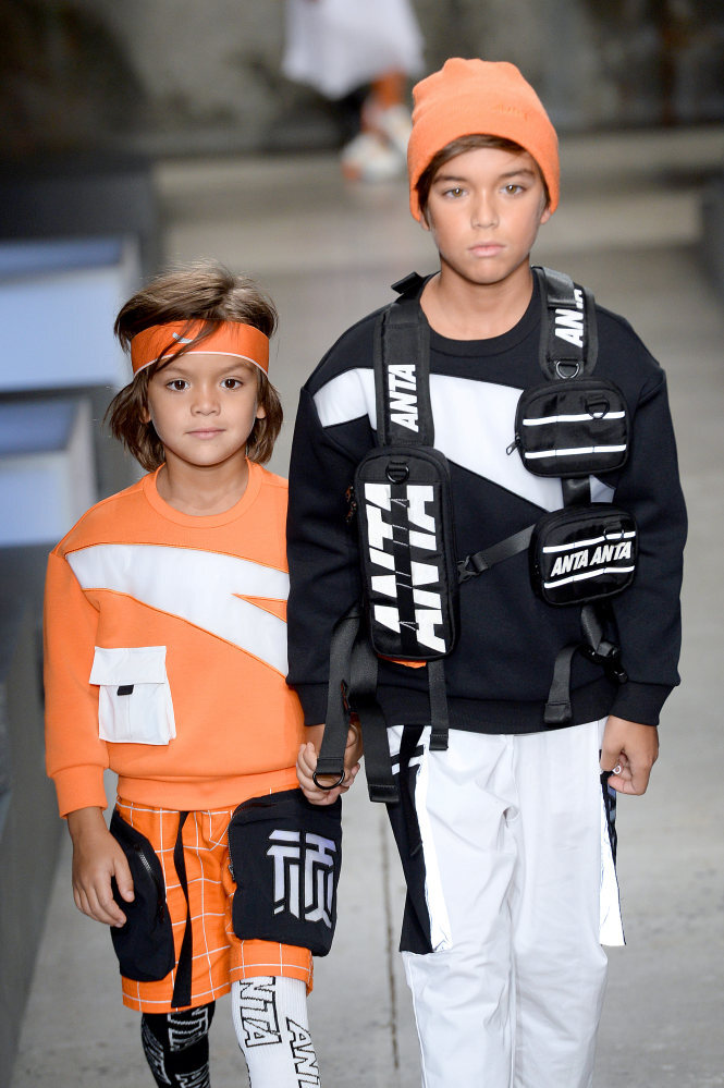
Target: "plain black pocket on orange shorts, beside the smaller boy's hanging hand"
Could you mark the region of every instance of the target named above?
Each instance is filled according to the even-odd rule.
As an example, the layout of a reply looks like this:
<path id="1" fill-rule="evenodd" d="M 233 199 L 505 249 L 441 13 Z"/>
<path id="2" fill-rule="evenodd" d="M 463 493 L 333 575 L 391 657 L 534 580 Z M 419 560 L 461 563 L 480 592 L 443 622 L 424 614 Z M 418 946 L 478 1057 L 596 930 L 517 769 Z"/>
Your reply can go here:
<path id="1" fill-rule="evenodd" d="M 111 927 L 121 974 L 137 982 L 157 982 L 176 962 L 161 863 L 148 839 L 126 823 L 118 809 L 109 830 L 123 847 L 135 894 L 133 902 L 126 903 L 112 881 L 113 898 L 126 916 L 121 929 Z"/>

